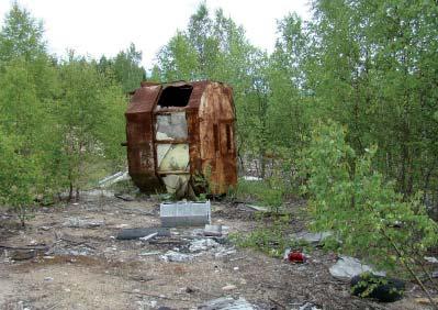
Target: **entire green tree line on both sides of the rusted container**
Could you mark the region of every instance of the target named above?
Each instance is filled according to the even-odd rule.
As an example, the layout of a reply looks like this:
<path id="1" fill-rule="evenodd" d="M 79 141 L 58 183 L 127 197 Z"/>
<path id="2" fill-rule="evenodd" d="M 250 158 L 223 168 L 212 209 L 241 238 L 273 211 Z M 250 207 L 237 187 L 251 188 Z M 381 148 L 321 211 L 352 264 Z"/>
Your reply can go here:
<path id="1" fill-rule="evenodd" d="M 139 81 L 233 86 L 243 167 L 272 167 L 297 190 L 317 123 L 334 121 L 358 156 L 405 199 L 438 209 L 438 5 L 434 1 L 312 1 L 312 19 L 279 20 L 276 47 L 200 4 L 149 71 L 134 45 L 99 60 L 47 52 L 41 22 L 16 3 L 0 33 L 0 197 L 24 206 L 75 191 L 90 166 L 124 165 L 126 92 Z M 355 165 L 350 165 L 353 174 Z M 287 178 L 284 178 L 287 176 Z"/>

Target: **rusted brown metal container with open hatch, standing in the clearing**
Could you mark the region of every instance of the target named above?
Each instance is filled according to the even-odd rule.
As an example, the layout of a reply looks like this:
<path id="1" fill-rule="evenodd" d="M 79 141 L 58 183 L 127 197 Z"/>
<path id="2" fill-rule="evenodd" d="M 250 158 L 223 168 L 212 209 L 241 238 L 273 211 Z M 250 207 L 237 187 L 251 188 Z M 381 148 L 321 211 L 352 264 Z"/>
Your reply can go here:
<path id="1" fill-rule="evenodd" d="M 229 86 L 143 82 L 125 117 L 128 171 L 141 190 L 221 195 L 236 186 Z"/>

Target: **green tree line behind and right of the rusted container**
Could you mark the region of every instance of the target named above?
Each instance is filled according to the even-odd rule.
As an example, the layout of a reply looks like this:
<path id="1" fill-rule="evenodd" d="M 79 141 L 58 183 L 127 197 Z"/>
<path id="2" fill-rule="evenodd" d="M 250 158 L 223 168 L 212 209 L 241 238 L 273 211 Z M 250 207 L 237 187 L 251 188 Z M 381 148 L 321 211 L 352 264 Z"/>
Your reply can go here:
<path id="1" fill-rule="evenodd" d="M 234 87 L 238 148 L 267 177 L 271 158 L 297 177 L 312 129 L 333 120 L 358 156 L 405 199 L 438 211 L 438 5 L 434 1 L 315 0 L 312 19 L 278 22 L 274 51 L 255 47 L 222 10 L 201 4 L 161 48 L 160 81 L 210 78 Z M 245 164 L 245 163 L 244 163 Z M 297 188 L 295 186 L 295 188 Z"/>

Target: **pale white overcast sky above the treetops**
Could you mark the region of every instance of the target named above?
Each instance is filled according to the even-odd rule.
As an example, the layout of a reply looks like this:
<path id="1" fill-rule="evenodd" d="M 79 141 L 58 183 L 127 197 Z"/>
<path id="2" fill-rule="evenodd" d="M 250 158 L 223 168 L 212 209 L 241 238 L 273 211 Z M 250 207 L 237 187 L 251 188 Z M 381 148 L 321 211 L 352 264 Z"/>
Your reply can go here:
<path id="1" fill-rule="evenodd" d="M 58 56 L 67 49 L 100 58 L 115 56 L 132 43 L 150 69 L 156 54 L 177 30 L 184 30 L 202 0 L 18 0 L 43 20 L 48 49 Z M 268 52 L 276 42 L 277 21 L 289 12 L 310 16 L 308 0 L 205 0 L 211 12 L 224 10 L 246 30 L 249 41 Z M 12 0 L 0 0 L 0 24 Z"/>

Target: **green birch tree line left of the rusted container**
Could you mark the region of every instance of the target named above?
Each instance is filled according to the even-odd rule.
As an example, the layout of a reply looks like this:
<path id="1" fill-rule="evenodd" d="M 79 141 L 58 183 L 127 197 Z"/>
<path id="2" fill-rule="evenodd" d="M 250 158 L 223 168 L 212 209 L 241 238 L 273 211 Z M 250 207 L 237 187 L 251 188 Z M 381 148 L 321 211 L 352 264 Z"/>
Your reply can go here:
<path id="1" fill-rule="evenodd" d="M 50 55 L 41 21 L 13 3 L 0 32 L 0 203 L 68 199 L 96 166 L 124 166 L 126 92 L 145 78 L 131 45 L 113 58 Z"/>

